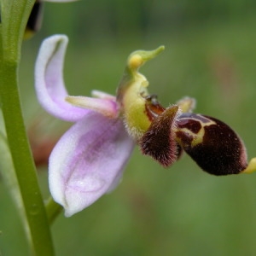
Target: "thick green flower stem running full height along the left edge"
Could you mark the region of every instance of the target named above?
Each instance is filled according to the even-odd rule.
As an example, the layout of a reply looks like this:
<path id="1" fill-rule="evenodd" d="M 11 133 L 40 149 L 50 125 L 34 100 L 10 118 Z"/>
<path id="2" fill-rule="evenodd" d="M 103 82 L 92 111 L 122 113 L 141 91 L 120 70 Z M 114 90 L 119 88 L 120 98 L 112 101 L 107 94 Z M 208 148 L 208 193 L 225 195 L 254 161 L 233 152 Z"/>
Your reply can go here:
<path id="1" fill-rule="evenodd" d="M 26 137 L 18 88 L 21 42 L 33 3 L 34 0 L 1 0 L 0 100 L 9 150 L 30 232 L 32 254 L 51 256 L 54 255 L 54 249 L 49 221 Z"/>

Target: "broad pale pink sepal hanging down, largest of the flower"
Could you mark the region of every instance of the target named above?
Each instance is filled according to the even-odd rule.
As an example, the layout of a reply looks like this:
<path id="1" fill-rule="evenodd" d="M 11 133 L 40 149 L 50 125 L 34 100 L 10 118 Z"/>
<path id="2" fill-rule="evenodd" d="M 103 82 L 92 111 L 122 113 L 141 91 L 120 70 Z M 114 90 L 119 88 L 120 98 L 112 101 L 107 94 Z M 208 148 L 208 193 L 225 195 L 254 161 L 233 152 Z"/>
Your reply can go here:
<path id="1" fill-rule="evenodd" d="M 61 137 L 49 158 L 49 189 L 67 217 L 113 189 L 133 147 L 121 119 L 96 112 Z"/>

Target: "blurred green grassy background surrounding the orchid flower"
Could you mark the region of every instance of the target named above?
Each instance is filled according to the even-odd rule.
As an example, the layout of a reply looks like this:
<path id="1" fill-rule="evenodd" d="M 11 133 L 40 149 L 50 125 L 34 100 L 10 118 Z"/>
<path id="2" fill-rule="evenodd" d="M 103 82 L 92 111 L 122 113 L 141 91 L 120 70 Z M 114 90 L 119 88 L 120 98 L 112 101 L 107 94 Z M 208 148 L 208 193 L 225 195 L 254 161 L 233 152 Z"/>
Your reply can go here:
<path id="1" fill-rule="evenodd" d="M 256 2 L 99 0 L 45 3 L 43 27 L 23 46 L 20 91 L 27 126 L 43 111 L 33 89 L 41 41 L 70 39 L 65 80 L 71 95 L 114 93 L 135 49 L 166 50 L 141 69 L 167 106 L 197 99 L 196 113 L 224 120 L 256 156 Z M 56 133 L 43 116 L 45 132 Z M 67 124 L 55 121 L 61 131 Z M 117 155 L 118 157 L 118 155 Z M 49 195 L 47 167 L 38 177 Z M 0 183 L 0 255 L 27 255 L 24 231 Z M 256 174 L 214 177 L 188 155 L 164 169 L 138 149 L 110 195 L 52 226 L 57 255 L 256 255 Z"/>

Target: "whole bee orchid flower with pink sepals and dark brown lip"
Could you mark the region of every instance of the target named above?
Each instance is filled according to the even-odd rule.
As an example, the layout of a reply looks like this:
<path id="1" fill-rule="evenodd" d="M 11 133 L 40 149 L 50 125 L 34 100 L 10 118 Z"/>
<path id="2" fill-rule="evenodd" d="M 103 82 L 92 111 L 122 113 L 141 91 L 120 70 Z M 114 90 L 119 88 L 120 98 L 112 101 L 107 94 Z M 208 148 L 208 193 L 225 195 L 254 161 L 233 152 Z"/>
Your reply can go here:
<path id="1" fill-rule="evenodd" d="M 75 124 L 49 157 L 49 189 L 66 216 L 89 207 L 119 183 L 135 143 L 161 166 L 171 166 L 185 151 L 214 175 L 254 172 L 244 144 L 230 126 L 192 113 L 193 98 L 164 108 L 148 94 L 143 64 L 163 49 L 137 50 L 128 56 L 117 95 L 93 90 L 92 96 L 68 96 L 62 78 L 67 37 L 44 40 L 38 54 L 35 87 L 42 107 Z"/>

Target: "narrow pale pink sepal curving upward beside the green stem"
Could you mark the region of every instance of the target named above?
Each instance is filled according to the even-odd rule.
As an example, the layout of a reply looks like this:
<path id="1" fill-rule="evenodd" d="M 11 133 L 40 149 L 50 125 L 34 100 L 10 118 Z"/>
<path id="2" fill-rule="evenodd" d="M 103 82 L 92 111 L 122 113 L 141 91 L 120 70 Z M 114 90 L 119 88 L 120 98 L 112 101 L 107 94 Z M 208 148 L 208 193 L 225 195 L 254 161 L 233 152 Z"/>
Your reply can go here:
<path id="1" fill-rule="evenodd" d="M 68 38 L 55 35 L 44 40 L 35 68 L 35 88 L 42 107 L 55 117 L 77 121 L 88 109 L 77 108 L 65 101 L 67 90 L 63 82 L 63 61 Z"/>

